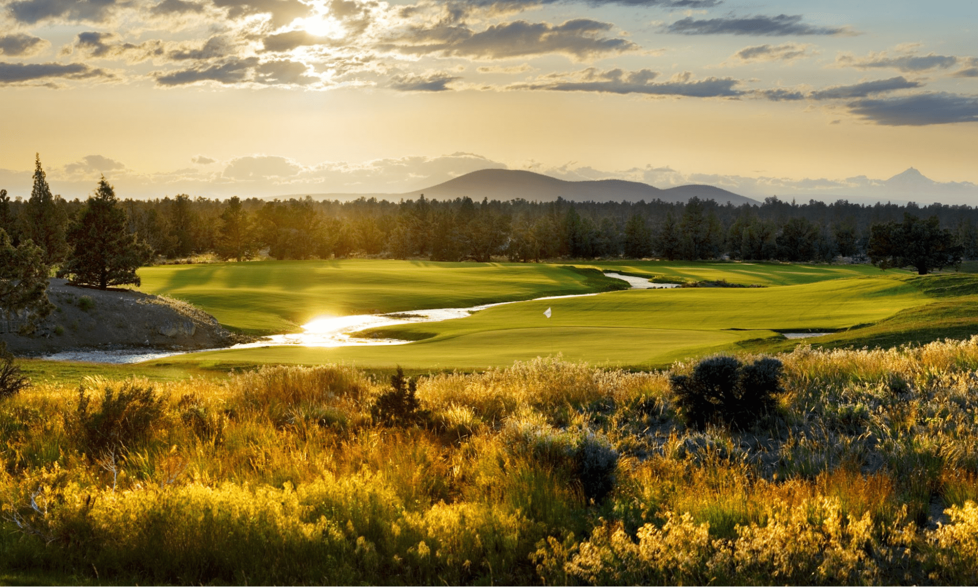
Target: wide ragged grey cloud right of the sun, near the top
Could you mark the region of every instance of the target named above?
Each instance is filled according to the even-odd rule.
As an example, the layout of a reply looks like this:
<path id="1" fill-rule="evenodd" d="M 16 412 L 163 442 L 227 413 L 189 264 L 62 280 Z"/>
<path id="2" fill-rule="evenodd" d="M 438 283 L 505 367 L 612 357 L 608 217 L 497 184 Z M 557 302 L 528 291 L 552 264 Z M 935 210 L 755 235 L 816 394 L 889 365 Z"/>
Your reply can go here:
<path id="1" fill-rule="evenodd" d="M 610 23 L 590 19 L 574 19 L 561 24 L 515 21 L 493 24 L 481 32 L 472 32 L 461 25 L 437 26 L 416 29 L 403 39 L 406 44 L 392 44 L 390 48 L 412 55 L 440 53 L 475 59 L 558 53 L 577 60 L 639 49 L 627 39 L 601 36 L 611 27 Z"/>

